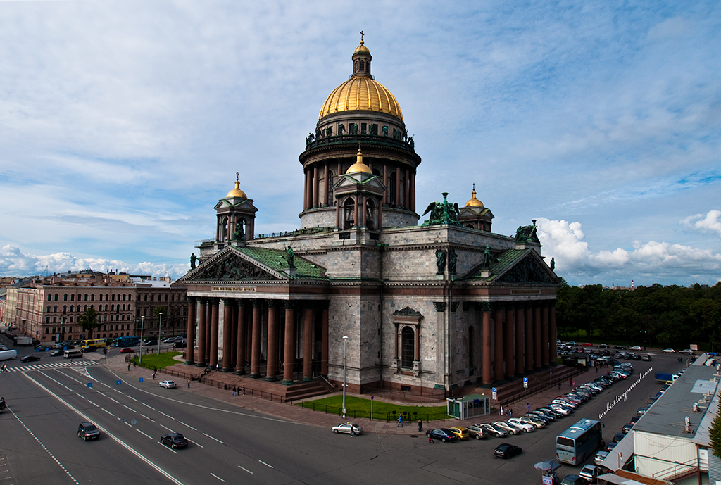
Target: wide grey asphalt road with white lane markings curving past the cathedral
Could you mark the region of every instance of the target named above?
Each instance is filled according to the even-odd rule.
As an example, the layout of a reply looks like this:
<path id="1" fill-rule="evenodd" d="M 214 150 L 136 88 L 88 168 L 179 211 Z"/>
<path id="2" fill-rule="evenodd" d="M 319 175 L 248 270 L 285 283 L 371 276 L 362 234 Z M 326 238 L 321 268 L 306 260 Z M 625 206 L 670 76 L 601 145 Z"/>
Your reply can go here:
<path id="1" fill-rule="evenodd" d="M 56 362 L 63 366 L 43 367 Z M 16 360 L 8 365 L 17 372 L 0 375 L 1 393 L 9 404 L 0 414 L 0 449 L 7 457 L 12 483 L 540 483 L 533 464 L 554 458 L 559 432 L 578 419 L 599 419 L 606 411 L 601 419 L 606 426 L 603 435 L 611 440 L 660 388 L 655 373 L 681 368 L 675 355 L 656 353 L 652 362 L 634 361 L 629 380 L 616 383 L 543 430 L 504 439 L 430 444 L 425 435 L 334 435 L 182 388 L 160 388 L 157 381 L 128 382 L 125 375 L 100 365 L 83 365 L 82 360 L 72 366 L 67 363 L 62 357 L 28 364 Z M 618 396 L 636 381 L 626 399 L 619 401 Z M 78 424 L 84 420 L 101 427 L 100 440 L 83 442 L 77 437 Z M 181 432 L 190 446 L 170 450 L 159 444 L 159 437 L 170 431 Z M 510 460 L 493 458 L 492 449 L 506 441 L 521 446 L 523 453 Z M 579 470 L 580 466 L 563 466 L 559 476 Z"/>

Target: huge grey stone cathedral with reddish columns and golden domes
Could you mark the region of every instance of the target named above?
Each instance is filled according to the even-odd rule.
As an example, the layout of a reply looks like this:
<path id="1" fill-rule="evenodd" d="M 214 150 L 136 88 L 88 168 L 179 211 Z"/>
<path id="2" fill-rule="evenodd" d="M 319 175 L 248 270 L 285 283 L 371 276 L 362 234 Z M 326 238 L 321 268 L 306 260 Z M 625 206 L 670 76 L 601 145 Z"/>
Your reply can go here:
<path id="1" fill-rule="evenodd" d="M 215 236 L 175 283 L 190 301 L 186 363 L 279 388 L 340 385 L 345 363 L 348 391 L 439 399 L 549 366 L 560 280 L 535 222 L 492 233 L 475 187 L 419 215 L 401 107 L 363 40 L 352 61 L 298 157 L 301 227 L 257 236 L 242 172 L 218 200 Z"/>

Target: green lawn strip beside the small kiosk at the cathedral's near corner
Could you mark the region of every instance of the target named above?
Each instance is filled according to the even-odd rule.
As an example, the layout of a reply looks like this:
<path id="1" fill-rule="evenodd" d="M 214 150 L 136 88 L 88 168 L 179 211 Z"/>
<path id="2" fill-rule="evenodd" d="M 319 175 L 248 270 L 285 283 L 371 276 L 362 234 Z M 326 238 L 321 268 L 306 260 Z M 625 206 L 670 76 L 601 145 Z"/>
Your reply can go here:
<path id="1" fill-rule="evenodd" d="M 315 411 L 323 411 L 332 414 L 342 415 L 343 396 L 330 396 L 314 401 L 303 401 L 296 406 L 304 406 L 314 409 Z M 371 400 L 363 399 L 355 396 L 345 396 L 346 417 L 371 417 Z M 446 414 L 446 406 L 399 406 L 383 401 L 373 401 L 373 419 L 394 420 L 398 419 L 398 413 L 403 413 L 404 421 L 417 421 L 419 418 L 423 421 L 451 419 Z"/>

